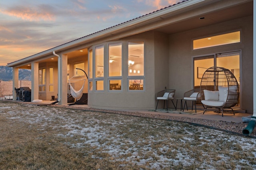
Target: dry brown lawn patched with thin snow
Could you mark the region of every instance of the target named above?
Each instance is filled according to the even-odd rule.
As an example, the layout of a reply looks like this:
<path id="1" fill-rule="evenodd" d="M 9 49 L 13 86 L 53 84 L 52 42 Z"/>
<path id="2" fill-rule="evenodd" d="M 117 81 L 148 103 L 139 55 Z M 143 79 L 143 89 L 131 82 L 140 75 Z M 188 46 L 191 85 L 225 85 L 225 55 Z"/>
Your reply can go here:
<path id="1" fill-rule="evenodd" d="M 0 102 L 1 169 L 256 169 L 256 140 L 160 119 Z"/>

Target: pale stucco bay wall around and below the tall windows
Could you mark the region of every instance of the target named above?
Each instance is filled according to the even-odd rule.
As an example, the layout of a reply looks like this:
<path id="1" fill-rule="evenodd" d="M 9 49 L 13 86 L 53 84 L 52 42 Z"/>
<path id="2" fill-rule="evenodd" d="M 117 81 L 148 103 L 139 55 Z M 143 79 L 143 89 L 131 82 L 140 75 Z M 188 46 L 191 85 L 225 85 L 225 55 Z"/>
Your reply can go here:
<path id="1" fill-rule="evenodd" d="M 89 92 L 88 106 L 105 109 L 153 109 L 156 106 L 156 90 L 163 90 L 165 86 L 168 87 L 168 36 L 148 31 L 126 37 L 121 39 L 121 41 L 123 45 L 122 91 L 108 92 L 108 78 L 105 77 L 104 92 Z M 144 91 L 128 91 L 128 41 L 144 41 Z M 157 56 L 157 59 L 155 56 Z M 159 70 L 156 68 L 159 68 Z"/>

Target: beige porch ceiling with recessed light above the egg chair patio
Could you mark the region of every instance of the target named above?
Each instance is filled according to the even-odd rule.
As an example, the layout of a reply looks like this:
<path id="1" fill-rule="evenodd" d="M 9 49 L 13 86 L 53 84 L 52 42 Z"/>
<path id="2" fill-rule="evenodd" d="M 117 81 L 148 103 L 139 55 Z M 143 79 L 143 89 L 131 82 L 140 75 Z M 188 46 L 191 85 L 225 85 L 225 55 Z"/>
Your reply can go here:
<path id="1" fill-rule="evenodd" d="M 155 30 L 166 34 L 173 34 L 252 15 L 253 1 L 214 12 L 206 12 L 196 17 L 188 18 L 187 20 L 156 28 Z M 204 17 L 205 19 L 200 20 L 200 17 Z"/>

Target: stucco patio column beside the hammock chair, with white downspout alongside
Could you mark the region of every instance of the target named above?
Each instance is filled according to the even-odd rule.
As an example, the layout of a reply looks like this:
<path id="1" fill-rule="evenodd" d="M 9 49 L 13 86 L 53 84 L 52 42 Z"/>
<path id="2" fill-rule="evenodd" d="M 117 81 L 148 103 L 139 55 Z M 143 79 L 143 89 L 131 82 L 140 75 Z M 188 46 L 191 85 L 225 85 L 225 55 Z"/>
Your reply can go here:
<path id="1" fill-rule="evenodd" d="M 58 104 L 66 105 L 68 104 L 68 77 L 67 77 L 67 66 L 68 66 L 68 56 L 60 55 L 60 102 Z"/>

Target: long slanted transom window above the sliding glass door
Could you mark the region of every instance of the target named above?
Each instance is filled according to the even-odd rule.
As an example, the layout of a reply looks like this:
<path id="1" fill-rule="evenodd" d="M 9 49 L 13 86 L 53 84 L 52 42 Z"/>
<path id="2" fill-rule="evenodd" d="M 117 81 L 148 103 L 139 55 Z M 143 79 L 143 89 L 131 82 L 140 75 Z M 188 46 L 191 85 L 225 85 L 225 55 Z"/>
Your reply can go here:
<path id="1" fill-rule="evenodd" d="M 193 41 L 193 49 L 202 49 L 206 47 L 214 47 L 218 45 L 226 45 L 240 42 L 240 31 L 226 33 Z"/>

